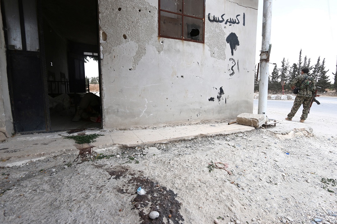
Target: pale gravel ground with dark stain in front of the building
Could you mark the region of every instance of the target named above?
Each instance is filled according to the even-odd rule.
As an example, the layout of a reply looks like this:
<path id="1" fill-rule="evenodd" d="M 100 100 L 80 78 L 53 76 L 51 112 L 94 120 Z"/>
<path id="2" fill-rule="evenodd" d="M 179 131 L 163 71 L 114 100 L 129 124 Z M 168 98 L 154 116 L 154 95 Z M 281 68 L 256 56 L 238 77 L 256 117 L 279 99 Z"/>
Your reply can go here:
<path id="1" fill-rule="evenodd" d="M 1 168 L 0 223 L 337 224 L 337 136 L 272 130 Z"/>

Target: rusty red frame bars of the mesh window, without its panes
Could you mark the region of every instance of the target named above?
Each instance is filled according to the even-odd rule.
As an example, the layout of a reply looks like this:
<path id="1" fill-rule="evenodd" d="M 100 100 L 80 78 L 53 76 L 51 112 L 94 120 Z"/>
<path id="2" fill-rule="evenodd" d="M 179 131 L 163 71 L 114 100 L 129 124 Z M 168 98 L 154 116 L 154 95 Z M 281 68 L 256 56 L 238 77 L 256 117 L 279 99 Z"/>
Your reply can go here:
<path id="1" fill-rule="evenodd" d="M 196 42 L 196 43 L 205 43 L 205 8 L 206 8 L 206 4 L 204 1 L 204 17 L 200 18 L 200 17 L 196 17 L 196 16 L 191 16 L 191 15 L 185 15 L 184 14 L 184 0 L 182 0 L 182 12 L 181 13 L 177 13 L 177 12 L 171 12 L 171 11 L 167 11 L 164 9 L 160 8 L 160 0 L 158 0 L 158 37 L 163 37 L 163 38 L 170 38 L 170 39 L 176 39 L 176 40 L 183 40 L 183 41 L 190 41 L 190 42 Z M 181 15 L 182 16 L 182 38 L 179 37 L 170 37 L 170 36 L 163 36 L 160 35 L 160 12 L 168 12 L 168 13 L 172 13 L 172 14 L 177 14 L 177 15 Z M 197 41 L 197 40 L 192 40 L 192 39 L 187 39 L 184 38 L 184 16 L 186 17 L 191 17 L 191 18 L 195 18 L 195 19 L 202 19 L 204 21 L 204 27 L 203 27 L 203 41 Z"/>

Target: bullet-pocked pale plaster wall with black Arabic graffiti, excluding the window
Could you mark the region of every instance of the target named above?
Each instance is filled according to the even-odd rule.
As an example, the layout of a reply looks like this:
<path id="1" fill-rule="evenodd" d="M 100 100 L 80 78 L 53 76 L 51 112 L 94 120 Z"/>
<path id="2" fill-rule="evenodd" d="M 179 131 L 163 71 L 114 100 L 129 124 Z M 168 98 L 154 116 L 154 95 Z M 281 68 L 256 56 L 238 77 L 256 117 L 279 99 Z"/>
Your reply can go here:
<path id="1" fill-rule="evenodd" d="M 158 1 L 100 0 L 103 127 L 252 113 L 258 1 L 242 2 L 206 1 L 203 44 L 159 38 Z"/>

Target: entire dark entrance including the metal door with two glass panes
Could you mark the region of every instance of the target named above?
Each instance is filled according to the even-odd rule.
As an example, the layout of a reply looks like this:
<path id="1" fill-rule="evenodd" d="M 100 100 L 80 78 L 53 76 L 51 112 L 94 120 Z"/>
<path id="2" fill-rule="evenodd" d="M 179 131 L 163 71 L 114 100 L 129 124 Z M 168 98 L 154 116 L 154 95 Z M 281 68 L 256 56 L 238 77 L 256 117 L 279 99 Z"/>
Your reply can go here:
<path id="1" fill-rule="evenodd" d="M 14 131 L 101 128 L 100 107 L 97 119 L 72 121 L 90 92 L 86 54 L 99 62 L 97 0 L 1 0 L 1 6 Z"/>

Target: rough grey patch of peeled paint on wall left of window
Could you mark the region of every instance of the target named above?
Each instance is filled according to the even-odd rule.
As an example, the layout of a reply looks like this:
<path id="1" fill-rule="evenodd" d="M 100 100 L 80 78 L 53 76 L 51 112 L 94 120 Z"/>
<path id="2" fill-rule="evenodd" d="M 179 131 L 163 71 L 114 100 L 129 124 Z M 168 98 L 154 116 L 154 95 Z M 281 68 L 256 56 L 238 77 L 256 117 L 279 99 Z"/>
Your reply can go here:
<path id="1" fill-rule="evenodd" d="M 163 44 L 157 38 L 158 10 L 155 6 L 144 0 L 101 0 L 99 16 L 100 29 L 106 34 L 106 41 L 101 42 L 103 56 L 110 54 L 117 46 L 134 42 L 137 44 L 137 51 L 132 58 L 132 70 L 135 70 L 146 54 L 147 45 L 154 46 L 158 54 L 162 52 Z"/>

